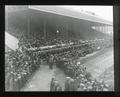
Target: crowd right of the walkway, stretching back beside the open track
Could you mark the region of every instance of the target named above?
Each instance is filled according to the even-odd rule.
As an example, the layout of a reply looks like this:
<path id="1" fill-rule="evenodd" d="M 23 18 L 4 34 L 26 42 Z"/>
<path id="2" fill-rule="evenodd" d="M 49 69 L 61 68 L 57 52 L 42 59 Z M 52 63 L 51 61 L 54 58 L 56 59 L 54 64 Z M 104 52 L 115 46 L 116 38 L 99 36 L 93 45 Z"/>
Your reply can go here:
<path id="1" fill-rule="evenodd" d="M 94 47 L 94 46 L 93 46 Z M 54 55 L 53 64 L 64 71 L 68 76 L 64 87 L 61 87 L 58 81 L 54 78 L 51 81 L 50 91 L 111 91 L 110 86 L 104 80 L 96 80 L 87 72 L 84 64 L 81 64 L 76 59 L 92 53 L 94 49 L 89 46 L 82 48 L 71 49 L 67 52 Z M 85 56 L 84 55 L 84 56 Z"/>

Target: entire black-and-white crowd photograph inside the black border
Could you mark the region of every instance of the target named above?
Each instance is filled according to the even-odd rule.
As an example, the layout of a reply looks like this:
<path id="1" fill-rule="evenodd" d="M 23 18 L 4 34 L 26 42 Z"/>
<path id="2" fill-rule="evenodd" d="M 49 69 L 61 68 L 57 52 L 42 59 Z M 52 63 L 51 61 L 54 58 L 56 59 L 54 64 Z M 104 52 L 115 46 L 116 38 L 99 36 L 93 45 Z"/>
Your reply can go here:
<path id="1" fill-rule="evenodd" d="M 113 6 L 5 5 L 5 91 L 115 91 L 113 29 Z"/>

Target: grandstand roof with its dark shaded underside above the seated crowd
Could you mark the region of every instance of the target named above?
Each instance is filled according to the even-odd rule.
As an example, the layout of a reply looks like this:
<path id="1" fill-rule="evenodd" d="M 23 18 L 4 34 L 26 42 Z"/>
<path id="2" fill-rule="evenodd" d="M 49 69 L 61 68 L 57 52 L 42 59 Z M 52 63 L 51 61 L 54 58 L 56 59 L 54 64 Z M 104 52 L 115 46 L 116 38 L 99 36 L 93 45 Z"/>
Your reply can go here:
<path id="1" fill-rule="evenodd" d="M 15 32 L 32 34 L 35 37 L 45 36 L 46 39 L 51 37 L 83 40 L 108 38 L 109 35 L 105 32 L 113 25 L 111 22 L 94 15 L 72 12 L 68 9 L 53 6 L 33 6 L 24 10 L 10 11 L 7 15 L 8 21 L 6 24 L 9 25 L 7 27 L 9 32 L 14 33 L 11 28 L 16 27 L 21 31 L 15 28 L 17 30 Z M 94 27 L 96 28 L 93 29 Z M 57 30 L 59 30 L 59 33 L 56 33 Z"/>

